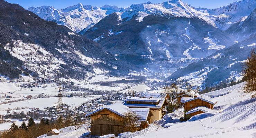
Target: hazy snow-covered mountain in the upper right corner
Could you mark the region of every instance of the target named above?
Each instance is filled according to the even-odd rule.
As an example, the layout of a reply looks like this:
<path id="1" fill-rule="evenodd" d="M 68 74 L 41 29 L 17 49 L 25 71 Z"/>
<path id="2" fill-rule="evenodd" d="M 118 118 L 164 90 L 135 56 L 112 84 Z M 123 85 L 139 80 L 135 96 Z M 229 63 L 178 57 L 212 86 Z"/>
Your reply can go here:
<path id="1" fill-rule="evenodd" d="M 256 0 L 242 0 L 216 9 L 195 9 L 205 13 L 205 16 L 211 18 L 216 27 L 221 30 L 227 30 L 236 22 L 243 22 L 255 7 Z"/>

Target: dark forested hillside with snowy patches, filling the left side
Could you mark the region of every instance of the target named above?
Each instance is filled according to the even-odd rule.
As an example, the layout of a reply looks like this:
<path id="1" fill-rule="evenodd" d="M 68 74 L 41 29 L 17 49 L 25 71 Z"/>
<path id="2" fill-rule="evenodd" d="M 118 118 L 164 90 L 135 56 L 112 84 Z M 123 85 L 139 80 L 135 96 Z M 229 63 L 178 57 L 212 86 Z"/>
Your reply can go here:
<path id="1" fill-rule="evenodd" d="M 0 74 L 85 79 L 120 70 L 117 59 L 97 42 L 0 0 Z M 118 65 L 119 64 L 119 65 Z M 124 65 L 124 62 L 122 63 Z"/>

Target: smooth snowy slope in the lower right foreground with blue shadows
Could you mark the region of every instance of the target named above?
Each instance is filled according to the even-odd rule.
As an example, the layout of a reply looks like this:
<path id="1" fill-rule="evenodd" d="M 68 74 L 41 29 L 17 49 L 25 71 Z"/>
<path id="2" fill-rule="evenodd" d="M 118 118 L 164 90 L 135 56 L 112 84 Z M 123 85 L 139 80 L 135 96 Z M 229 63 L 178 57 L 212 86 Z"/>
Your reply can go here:
<path id="1" fill-rule="evenodd" d="M 164 138 L 169 136 L 175 138 L 254 138 L 256 136 L 256 100 L 251 99 L 250 94 L 243 96 L 242 93 L 239 93 L 242 91 L 243 84 L 240 83 L 205 94 L 230 92 L 227 95 L 214 98 L 218 100 L 218 103 L 214 105 L 214 110 L 218 111 L 215 115 L 211 113 L 200 114 L 189 121 L 170 123 L 168 124 L 169 128 L 152 131 L 136 138 Z"/>

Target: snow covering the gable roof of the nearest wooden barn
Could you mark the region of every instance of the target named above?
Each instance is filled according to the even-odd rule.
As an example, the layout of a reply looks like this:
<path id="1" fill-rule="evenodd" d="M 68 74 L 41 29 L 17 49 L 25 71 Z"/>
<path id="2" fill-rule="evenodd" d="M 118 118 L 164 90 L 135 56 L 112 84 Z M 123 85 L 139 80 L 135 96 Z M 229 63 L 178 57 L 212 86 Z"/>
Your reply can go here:
<path id="1" fill-rule="evenodd" d="M 141 117 L 140 121 L 147 121 L 147 117 L 149 115 L 149 110 L 150 110 L 148 108 L 129 108 L 121 103 L 113 103 L 112 105 L 108 105 L 101 109 L 90 112 L 89 114 L 86 114 L 85 117 L 89 117 L 89 116 L 95 114 L 96 112 L 99 112 L 104 109 L 108 109 L 121 117 L 125 117 L 125 112 L 127 112 L 128 110 L 136 111 L 137 114 Z"/>

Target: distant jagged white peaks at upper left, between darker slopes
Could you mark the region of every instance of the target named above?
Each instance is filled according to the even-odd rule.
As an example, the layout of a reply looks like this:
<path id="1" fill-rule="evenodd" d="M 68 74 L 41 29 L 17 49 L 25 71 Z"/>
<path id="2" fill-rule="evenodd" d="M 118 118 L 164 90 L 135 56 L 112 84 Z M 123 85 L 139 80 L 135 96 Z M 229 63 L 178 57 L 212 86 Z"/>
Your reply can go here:
<path id="1" fill-rule="evenodd" d="M 27 10 L 36 13 L 40 18 L 47 21 L 54 21 L 79 32 L 82 29 L 92 26 L 99 22 L 102 18 L 113 12 L 125 11 L 124 8 L 116 6 L 104 5 L 102 7 L 94 7 L 91 5 L 83 5 L 78 3 L 65 9 L 55 9 L 52 6 L 30 7 Z"/>

